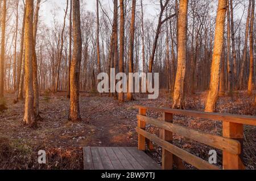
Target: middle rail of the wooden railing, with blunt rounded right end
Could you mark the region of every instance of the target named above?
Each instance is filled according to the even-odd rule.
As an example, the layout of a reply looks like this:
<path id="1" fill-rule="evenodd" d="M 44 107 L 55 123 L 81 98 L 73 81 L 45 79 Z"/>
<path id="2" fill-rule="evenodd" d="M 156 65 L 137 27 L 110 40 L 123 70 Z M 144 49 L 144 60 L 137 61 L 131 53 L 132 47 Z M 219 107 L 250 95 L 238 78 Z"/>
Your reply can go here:
<path id="1" fill-rule="evenodd" d="M 137 117 L 138 119 L 144 120 L 146 123 L 150 123 L 155 125 L 156 127 L 166 129 L 168 131 L 171 131 L 177 134 L 181 134 L 184 137 L 190 138 L 192 140 L 201 142 L 209 146 L 213 146 L 214 148 L 218 148 L 232 154 L 241 153 L 241 145 L 240 145 L 240 142 L 237 140 L 216 136 L 216 135 L 208 134 L 204 132 L 199 132 L 199 131 L 196 131 L 195 129 L 181 127 L 180 125 L 176 125 L 172 123 L 165 123 L 157 119 L 152 119 L 146 116 L 138 115 Z"/>

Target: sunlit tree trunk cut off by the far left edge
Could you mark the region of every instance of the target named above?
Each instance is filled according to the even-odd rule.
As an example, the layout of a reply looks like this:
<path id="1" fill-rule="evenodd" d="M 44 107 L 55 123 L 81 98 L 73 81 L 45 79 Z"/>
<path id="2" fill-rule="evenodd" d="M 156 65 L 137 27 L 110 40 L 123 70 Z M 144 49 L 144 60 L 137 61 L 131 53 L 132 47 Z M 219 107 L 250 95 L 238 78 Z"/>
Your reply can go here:
<path id="1" fill-rule="evenodd" d="M 5 29 L 6 29 L 6 0 L 3 0 L 2 7 L 2 36 L 1 36 L 1 60 L 0 60 L 0 99 L 3 99 L 4 76 L 5 76 Z"/>

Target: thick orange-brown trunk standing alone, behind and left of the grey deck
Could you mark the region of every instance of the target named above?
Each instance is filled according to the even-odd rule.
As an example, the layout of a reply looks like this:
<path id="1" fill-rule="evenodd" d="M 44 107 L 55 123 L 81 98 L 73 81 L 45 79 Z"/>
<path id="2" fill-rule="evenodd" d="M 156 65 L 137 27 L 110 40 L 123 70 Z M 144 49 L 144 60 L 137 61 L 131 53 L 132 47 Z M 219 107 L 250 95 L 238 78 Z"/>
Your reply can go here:
<path id="1" fill-rule="evenodd" d="M 80 0 L 73 0 L 73 40 L 74 49 L 70 71 L 69 120 L 81 121 L 79 108 L 79 75 L 82 58 L 82 37 L 80 22 Z"/>

